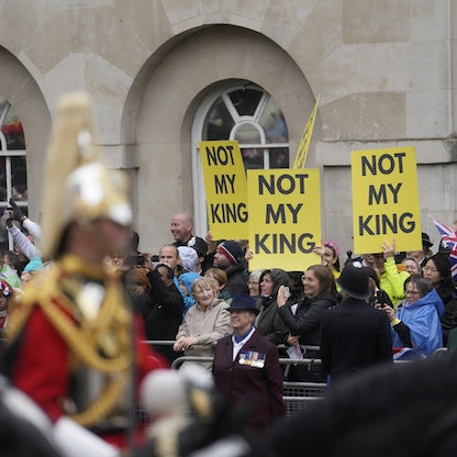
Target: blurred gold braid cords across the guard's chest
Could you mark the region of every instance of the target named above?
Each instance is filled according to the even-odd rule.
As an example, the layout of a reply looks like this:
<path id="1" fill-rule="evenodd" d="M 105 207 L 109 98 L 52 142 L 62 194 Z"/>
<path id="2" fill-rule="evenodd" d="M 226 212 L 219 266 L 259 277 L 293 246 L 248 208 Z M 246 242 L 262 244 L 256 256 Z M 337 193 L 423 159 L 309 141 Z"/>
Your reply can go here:
<path id="1" fill-rule="evenodd" d="M 80 278 L 92 280 L 104 279 L 103 303 L 92 321 L 85 319 L 77 304 L 62 291 L 62 285 L 69 288 L 73 285 L 75 289 L 78 289 L 78 281 L 71 281 L 71 278 L 78 275 Z M 70 290 L 70 292 L 73 291 Z M 36 297 L 40 297 L 40 301 L 36 301 Z M 36 305 L 41 306 L 46 317 L 68 345 L 75 366 L 82 365 L 96 369 L 109 379 L 102 394 L 85 411 L 71 415 L 79 424 L 91 426 L 110 413 L 129 383 L 130 367 L 133 360 L 132 319 L 124 308 L 119 282 L 114 277 L 107 276 L 104 270 L 90 268 L 75 257 L 64 257 L 62 261 L 53 265 L 51 270 L 36 279 L 34 278 L 27 285 L 20 303 L 16 304 L 18 309 L 12 315 L 12 322 L 8 326 L 10 341 L 18 336 L 33 306 Z M 109 358 L 107 358 L 107 354 L 103 354 L 103 341 L 111 342 Z"/>

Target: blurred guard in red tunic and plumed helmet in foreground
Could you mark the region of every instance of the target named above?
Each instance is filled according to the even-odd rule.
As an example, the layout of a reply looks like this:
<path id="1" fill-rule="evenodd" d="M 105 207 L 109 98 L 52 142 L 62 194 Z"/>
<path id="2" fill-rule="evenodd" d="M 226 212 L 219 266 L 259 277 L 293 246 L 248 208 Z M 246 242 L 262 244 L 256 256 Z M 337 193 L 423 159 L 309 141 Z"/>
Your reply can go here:
<path id="1" fill-rule="evenodd" d="M 132 337 L 124 290 L 103 267 L 109 253 L 126 252 L 132 211 L 125 177 L 97 158 L 90 108 L 85 93 L 58 105 L 42 245 L 54 263 L 14 305 L 3 361 L 13 384 L 55 423 L 64 455 L 103 457 L 125 447 L 132 374 L 161 361 Z"/>

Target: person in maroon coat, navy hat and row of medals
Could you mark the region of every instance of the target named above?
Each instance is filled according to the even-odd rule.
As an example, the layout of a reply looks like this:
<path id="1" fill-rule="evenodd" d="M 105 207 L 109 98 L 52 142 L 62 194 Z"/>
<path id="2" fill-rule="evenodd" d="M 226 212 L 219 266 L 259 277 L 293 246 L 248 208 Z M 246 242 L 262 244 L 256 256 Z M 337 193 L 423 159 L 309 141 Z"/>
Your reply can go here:
<path id="1" fill-rule="evenodd" d="M 248 406 L 246 425 L 260 432 L 286 412 L 278 350 L 253 325 L 259 310 L 252 297 L 235 296 L 227 310 L 233 335 L 215 347 L 214 383 L 228 401 Z"/>

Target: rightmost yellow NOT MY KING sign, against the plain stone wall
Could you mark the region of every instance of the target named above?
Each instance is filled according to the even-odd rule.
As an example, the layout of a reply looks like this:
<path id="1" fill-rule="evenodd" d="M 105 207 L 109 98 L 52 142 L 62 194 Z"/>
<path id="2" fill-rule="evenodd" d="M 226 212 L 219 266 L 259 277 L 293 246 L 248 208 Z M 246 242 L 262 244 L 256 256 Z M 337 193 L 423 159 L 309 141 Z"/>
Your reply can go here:
<path id="1" fill-rule="evenodd" d="M 422 249 L 414 147 L 353 151 L 354 252 Z"/>

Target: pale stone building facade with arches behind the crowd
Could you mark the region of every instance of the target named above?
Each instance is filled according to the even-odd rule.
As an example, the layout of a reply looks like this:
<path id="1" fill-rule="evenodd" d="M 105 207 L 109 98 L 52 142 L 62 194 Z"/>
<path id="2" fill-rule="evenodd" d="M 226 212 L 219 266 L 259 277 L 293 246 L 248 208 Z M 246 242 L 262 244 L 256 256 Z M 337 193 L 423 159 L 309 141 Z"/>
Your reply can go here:
<path id="1" fill-rule="evenodd" d="M 0 0 L 0 97 L 22 121 L 31 216 L 56 99 L 85 89 L 103 155 L 133 178 L 141 248 L 169 242 L 180 211 L 204 236 L 198 142 L 215 100 L 254 87 L 283 116 L 289 164 L 321 96 L 306 166 L 324 238 L 352 249 L 350 152 L 408 145 L 437 241 L 427 215 L 457 216 L 456 24 L 453 0 Z"/>

